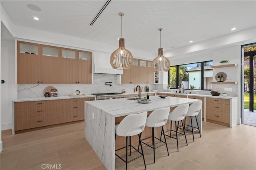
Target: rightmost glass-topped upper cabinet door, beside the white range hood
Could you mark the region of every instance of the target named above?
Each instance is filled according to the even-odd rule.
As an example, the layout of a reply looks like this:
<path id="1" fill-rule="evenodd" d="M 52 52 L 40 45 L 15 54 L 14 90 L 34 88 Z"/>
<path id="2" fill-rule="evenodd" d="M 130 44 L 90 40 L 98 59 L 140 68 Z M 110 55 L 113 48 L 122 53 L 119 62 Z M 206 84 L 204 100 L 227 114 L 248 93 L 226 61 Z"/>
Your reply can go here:
<path id="1" fill-rule="evenodd" d="M 77 51 L 77 83 L 92 84 L 92 52 Z"/>

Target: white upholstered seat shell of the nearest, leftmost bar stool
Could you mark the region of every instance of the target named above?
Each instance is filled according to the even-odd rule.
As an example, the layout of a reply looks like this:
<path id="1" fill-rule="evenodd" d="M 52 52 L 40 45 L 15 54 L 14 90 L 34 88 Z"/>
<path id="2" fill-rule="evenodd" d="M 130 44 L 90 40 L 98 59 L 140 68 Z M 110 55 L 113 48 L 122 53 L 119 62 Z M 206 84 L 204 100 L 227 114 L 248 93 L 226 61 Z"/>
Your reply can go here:
<path id="1" fill-rule="evenodd" d="M 116 135 L 126 137 L 141 133 L 145 128 L 147 115 L 146 111 L 127 115 L 118 125 Z"/>

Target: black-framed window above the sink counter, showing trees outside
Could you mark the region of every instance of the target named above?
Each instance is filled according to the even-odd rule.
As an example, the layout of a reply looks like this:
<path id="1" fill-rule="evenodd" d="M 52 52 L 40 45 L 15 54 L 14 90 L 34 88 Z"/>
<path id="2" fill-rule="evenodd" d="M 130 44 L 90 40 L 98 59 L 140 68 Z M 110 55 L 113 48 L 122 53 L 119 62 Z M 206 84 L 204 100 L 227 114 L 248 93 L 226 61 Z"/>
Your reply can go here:
<path id="1" fill-rule="evenodd" d="M 170 88 L 178 89 L 178 86 L 181 87 L 183 84 L 184 89 L 190 89 L 191 85 L 195 90 L 211 90 L 212 64 L 212 61 L 204 61 L 171 66 L 169 70 Z"/>

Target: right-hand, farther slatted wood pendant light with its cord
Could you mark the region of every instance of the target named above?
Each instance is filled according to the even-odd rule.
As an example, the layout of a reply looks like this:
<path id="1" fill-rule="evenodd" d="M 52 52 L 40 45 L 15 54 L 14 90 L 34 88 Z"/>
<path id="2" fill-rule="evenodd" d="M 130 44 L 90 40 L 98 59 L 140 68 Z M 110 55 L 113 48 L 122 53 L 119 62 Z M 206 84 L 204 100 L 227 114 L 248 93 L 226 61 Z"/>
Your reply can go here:
<path id="1" fill-rule="evenodd" d="M 158 49 L 158 56 L 152 61 L 152 69 L 154 72 L 167 72 L 170 69 L 170 61 L 164 57 L 161 48 L 161 31 L 163 29 L 159 28 L 158 30 L 160 31 L 160 49 Z"/>

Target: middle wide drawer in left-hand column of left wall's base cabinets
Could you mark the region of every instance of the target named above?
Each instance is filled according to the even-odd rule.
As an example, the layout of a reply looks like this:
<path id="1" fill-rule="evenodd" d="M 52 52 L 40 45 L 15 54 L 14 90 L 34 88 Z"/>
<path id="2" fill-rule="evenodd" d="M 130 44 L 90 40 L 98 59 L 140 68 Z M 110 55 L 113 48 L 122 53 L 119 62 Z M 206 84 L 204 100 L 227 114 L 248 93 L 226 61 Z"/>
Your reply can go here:
<path id="1" fill-rule="evenodd" d="M 60 105 L 48 107 L 25 107 L 14 109 L 15 118 L 60 113 Z"/>

